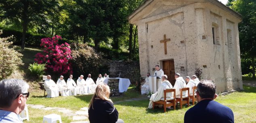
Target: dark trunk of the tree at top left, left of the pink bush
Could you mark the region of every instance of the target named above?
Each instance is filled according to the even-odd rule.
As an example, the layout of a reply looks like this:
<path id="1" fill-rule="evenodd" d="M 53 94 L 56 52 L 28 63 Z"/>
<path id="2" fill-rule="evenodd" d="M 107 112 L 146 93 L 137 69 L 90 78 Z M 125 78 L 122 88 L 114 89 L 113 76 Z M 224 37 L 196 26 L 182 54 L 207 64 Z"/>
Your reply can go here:
<path id="1" fill-rule="evenodd" d="M 25 48 L 25 40 L 26 40 L 26 31 L 27 31 L 27 27 L 28 27 L 28 4 L 27 3 L 23 3 L 24 4 L 24 8 L 23 8 L 23 12 L 22 12 L 22 28 L 23 28 L 23 32 L 22 32 L 22 41 L 21 41 L 21 49 L 24 50 Z"/>

